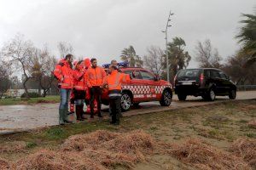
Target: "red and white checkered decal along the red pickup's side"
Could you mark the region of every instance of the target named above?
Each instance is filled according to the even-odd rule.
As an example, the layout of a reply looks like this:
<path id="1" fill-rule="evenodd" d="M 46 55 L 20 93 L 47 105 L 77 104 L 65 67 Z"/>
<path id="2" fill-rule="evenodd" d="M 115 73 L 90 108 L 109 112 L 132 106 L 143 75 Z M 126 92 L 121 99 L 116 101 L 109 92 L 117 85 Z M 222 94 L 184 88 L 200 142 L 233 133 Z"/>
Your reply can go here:
<path id="1" fill-rule="evenodd" d="M 132 94 L 152 94 L 152 88 L 154 88 L 154 94 L 162 94 L 165 88 L 172 88 L 171 86 L 132 86 L 125 85 L 123 89 L 131 90 Z"/>

